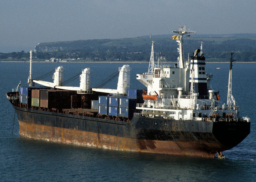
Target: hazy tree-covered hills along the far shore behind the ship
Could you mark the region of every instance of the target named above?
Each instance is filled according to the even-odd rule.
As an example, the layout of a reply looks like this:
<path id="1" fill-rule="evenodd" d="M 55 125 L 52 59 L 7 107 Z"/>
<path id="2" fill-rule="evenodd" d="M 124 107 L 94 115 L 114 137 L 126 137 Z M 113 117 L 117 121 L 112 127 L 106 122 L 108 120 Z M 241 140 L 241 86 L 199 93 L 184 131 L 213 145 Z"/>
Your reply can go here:
<path id="1" fill-rule="evenodd" d="M 95 39 L 39 43 L 35 47 L 34 58 L 37 59 L 75 59 L 90 61 L 148 61 L 151 44 L 154 41 L 154 51 L 161 55 L 166 62 L 176 62 L 177 42 L 172 35 L 141 36 L 124 39 Z M 243 62 L 256 61 L 256 34 L 219 34 L 184 36 L 184 56 L 200 48 L 203 41 L 203 53 L 207 61 L 228 61 L 230 52 L 234 59 Z M 26 53 L 22 53 L 23 57 Z M 9 57 L 20 59 L 19 53 L 0 54 L 0 59 Z M 29 58 L 29 56 L 27 56 Z"/>

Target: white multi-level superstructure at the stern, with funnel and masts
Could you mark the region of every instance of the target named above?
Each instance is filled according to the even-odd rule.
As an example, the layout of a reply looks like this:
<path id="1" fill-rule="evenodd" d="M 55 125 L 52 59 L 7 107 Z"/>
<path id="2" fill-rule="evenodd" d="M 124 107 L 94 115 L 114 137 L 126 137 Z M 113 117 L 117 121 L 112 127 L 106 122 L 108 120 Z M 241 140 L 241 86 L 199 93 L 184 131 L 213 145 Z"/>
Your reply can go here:
<path id="1" fill-rule="evenodd" d="M 239 107 L 226 107 L 219 102 L 218 92 L 211 89 L 209 82 L 212 75 L 206 73 L 205 58 L 203 54 L 199 55 L 200 50 L 194 52 L 190 61 L 184 62 L 182 35 L 195 32 L 186 31 L 185 26 L 173 32 L 178 34 L 173 36 L 179 46 L 178 64 L 153 65 L 154 60 L 151 56 L 149 71 L 137 74 L 137 80 L 147 87 L 144 103 L 137 104 L 136 107 L 140 111 L 139 114 L 175 120 L 215 121 L 219 118 L 237 120 Z M 151 55 L 154 55 L 153 51 L 152 44 Z M 150 99 L 150 96 L 155 94 L 158 98 Z M 234 100 L 232 95 L 229 97 L 228 104 Z"/>

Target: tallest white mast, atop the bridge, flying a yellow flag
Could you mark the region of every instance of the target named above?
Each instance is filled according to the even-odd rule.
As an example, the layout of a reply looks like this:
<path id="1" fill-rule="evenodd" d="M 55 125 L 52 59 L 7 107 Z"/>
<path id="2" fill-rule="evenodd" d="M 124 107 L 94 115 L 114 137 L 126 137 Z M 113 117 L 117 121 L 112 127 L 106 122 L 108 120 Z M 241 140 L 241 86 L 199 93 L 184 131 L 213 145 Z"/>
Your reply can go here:
<path id="1" fill-rule="evenodd" d="M 185 63 L 184 63 L 184 56 L 183 56 L 183 46 L 182 46 L 182 36 L 188 33 L 196 33 L 193 29 L 193 31 L 190 31 L 188 29 L 188 31 L 186 30 L 186 24 L 185 26 L 178 26 L 180 27 L 178 30 L 172 31 L 174 33 L 179 34 L 180 36 L 177 38 L 177 43 L 178 43 L 178 53 L 180 54 L 180 56 L 178 57 L 178 64 L 180 68 L 185 68 Z"/>

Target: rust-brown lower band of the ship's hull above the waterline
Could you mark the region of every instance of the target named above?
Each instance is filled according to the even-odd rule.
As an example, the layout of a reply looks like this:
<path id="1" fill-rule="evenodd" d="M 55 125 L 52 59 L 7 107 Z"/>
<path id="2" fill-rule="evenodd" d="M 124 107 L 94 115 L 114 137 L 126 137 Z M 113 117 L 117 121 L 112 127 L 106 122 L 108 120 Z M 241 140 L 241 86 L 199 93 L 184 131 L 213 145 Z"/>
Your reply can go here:
<path id="1" fill-rule="evenodd" d="M 197 142 L 177 142 L 143 140 L 113 135 L 98 134 L 88 131 L 26 123 L 19 120 L 21 136 L 43 141 L 67 143 L 72 145 L 99 147 L 103 149 L 138 151 L 145 153 L 214 157 L 215 153 L 203 150 Z"/>

